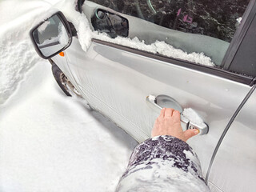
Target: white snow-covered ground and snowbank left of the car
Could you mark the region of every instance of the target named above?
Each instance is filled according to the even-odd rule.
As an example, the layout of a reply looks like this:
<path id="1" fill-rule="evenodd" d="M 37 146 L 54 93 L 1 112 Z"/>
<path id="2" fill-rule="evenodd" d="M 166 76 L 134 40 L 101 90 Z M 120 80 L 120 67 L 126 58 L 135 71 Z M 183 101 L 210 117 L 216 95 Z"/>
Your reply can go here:
<path id="1" fill-rule="evenodd" d="M 0 191 L 114 191 L 137 142 L 38 58 L 28 31 L 48 2 L 0 2 Z"/>

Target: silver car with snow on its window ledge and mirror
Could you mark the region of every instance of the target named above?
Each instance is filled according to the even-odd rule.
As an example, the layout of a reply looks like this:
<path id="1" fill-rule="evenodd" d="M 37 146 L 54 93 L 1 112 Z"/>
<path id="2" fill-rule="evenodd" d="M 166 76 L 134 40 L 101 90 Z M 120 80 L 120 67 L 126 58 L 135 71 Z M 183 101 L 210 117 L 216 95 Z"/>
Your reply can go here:
<path id="1" fill-rule="evenodd" d="M 256 189 L 255 30 L 254 0 L 78 0 L 30 37 L 68 96 L 138 142 L 179 110 L 210 190 L 236 192 Z"/>

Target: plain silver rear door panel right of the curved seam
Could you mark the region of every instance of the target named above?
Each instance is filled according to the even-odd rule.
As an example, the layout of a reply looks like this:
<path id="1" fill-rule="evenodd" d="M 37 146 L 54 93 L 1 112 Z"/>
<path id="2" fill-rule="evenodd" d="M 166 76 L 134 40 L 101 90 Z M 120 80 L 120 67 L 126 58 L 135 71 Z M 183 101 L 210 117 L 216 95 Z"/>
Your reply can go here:
<path id="1" fill-rule="evenodd" d="M 254 90 L 227 131 L 210 171 L 210 181 L 223 191 L 256 189 L 255 114 L 256 91 Z"/>

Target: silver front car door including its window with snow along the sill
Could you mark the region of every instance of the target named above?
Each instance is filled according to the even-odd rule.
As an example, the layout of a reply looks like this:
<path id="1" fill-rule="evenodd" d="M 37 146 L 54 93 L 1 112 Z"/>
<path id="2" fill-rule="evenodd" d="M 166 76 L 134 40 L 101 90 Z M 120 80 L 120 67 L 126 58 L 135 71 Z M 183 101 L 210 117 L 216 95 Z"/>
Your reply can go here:
<path id="1" fill-rule="evenodd" d="M 232 53 L 230 46 L 236 45 L 229 42 L 233 38 L 232 36 L 228 39 L 231 32 L 222 31 L 222 35 L 218 36 L 222 37 L 221 39 L 214 38 L 209 29 L 210 32 L 207 32 L 195 27 L 194 30 L 199 32 L 191 32 L 193 19 L 190 11 L 182 12 L 185 8 L 179 8 L 179 5 L 175 8 L 175 15 L 181 15 L 178 18 L 181 23 L 175 24 L 174 21 L 171 23 L 174 28 L 169 29 L 159 23 L 153 23 L 152 17 L 146 18 L 147 11 L 143 9 L 148 9 L 145 6 L 150 5 L 135 5 L 136 1 L 130 3 L 135 3 L 134 10 L 137 10 L 133 16 L 117 11 L 118 6 L 128 6 L 129 1 L 124 1 L 125 4 L 121 6 L 113 6 L 115 1 L 110 1 L 110 8 L 106 7 L 104 1 L 94 2 L 86 1 L 82 12 L 91 22 L 91 28 L 98 30 L 98 34 L 95 33 L 86 52 L 82 50 L 76 38 L 66 50 L 74 84 L 90 106 L 111 118 L 138 142 L 150 138 L 154 120 L 160 112 L 148 105 L 147 96 L 164 95 L 177 101 L 182 108 L 196 111 L 209 126 L 209 132 L 191 138 L 188 142 L 196 150 L 202 164 L 202 172 L 206 176 L 212 155 L 226 125 L 250 92 L 253 82 L 253 77 L 236 74 L 222 67 L 226 55 Z M 254 4 L 254 1 L 251 4 Z M 153 10 L 148 11 L 154 12 L 152 3 L 151 6 Z M 128 25 L 124 24 L 129 29 L 127 37 L 124 30 L 115 33 L 115 28 L 95 28 L 95 15 L 96 18 L 102 19 L 98 10 L 108 15 L 118 15 L 116 20 L 108 18 L 112 24 L 113 21 L 122 21 L 122 18 L 127 20 Z M 134 11 L 129 7 L 127 10 L 130 10 L 130 13 Z M 249 13 L 250 9 L 242 12 L 246 17 Z M 171 16 L 170 13 L 170 18 Z M 233 40 L 240 37 L 239 33 L 246 27 L 244 21 L 238 27 L 239 31 Z M 185 31 L 187 28 L 190 30 Z M 202 30 L 207 35 L 198 34 Z M 102 33 L 109 33 L 110 38 Z M 115 34 L 120 33 L 122 37 L 115 38 Z M 170 46 L 171 42 L 174 47 Z M 211 61 L 209 57 L 212 58 Z M 167 107 L 170 101 L 167 99 L 160 102 L 162 107 Z"/>

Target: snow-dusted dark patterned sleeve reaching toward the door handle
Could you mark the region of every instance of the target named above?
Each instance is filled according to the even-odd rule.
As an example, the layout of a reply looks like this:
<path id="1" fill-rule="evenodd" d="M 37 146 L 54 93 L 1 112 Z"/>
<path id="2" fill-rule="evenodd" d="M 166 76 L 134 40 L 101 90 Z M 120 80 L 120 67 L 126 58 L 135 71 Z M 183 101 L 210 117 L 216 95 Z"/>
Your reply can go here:
<path id="1" fill-rule="evenodd" d="M 192 148 L 178 138 L 164 135 L 136 146 L 116 191 L 210 190 Z"/>

